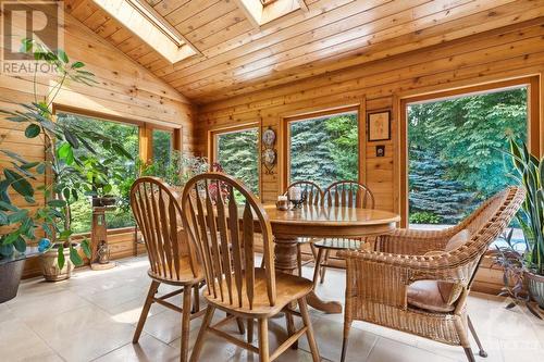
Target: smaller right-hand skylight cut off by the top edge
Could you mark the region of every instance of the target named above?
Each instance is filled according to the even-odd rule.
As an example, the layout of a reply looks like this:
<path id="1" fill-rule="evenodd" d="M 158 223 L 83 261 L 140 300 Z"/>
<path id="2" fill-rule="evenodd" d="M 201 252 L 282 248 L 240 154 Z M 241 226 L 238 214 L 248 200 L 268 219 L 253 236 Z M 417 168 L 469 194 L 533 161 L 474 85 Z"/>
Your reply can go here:
<path id="1" fill-rule="evenodd" d="M 249 21 L 256 26 L 270 23 L 279 17 L 301 9 L 302 0 L 237 0 Z"/>

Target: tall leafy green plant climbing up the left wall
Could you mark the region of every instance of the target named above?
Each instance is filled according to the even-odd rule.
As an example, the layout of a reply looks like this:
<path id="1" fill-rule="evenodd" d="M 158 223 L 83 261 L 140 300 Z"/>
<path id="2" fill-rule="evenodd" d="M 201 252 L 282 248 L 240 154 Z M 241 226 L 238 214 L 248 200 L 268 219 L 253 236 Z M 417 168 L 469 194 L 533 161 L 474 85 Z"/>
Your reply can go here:
<path id="1" fill-rule="evenodd" d="M 63 50 L 50 51 L 29 39 L 24 39 L 22 43 L 24 51 L 33 54 L 36 61 L 47 62 L 55 70 L 54 79 L 50 79 L 54 80 L 54 86 L 40 97 L 37 91 L 38 79 L 35 76 L 34 102 L 20 104 L 20 111 L 0 110 L 8 115 L 5 120 L 24 125 L 26 138 L 41 138 L 46 153 L 45 161 L 32 162 L 15 152 L 0 148 L 11 160 L 11 166 L 3 167 L 3 174 L 0 175 L 0 226 L 3 230 L 0 236 L 0 257 L 11 255 L 14 249 L 24 252 L 26 241 L 36 239 L 36 229 L 41 228 L 54 240 L 48 248 L 59 249 L 61 269 L 65 263 L 64 248 L 70 248 L 71 261 L 81 265 L 83 260 L 70 242 L 71 204 L 92 187 L 87 175 L 103 175 L 104 170 L 85 162 L 76 150 L 85 148 L 96 154 L 96 145 L 100 143 L 121 157 L 129 154 L 120 140 L 77 124 L 54 122 L 51 108 L 65 83 L 75 82 L 91 86 L 96 83 L 94 74 L 84 70 L 83 62 L 71 62 Z M 41 185 L 35 188 L 33 184 Z M 33 212 L 37 205 L 36 191 L 44 192 L 46 203 Z M 24 201 L 17 202 L 13 194 L 22 196 Z M 82 247 L 85 253 L 90 255 L 88 242 L 84 241 Z"/>

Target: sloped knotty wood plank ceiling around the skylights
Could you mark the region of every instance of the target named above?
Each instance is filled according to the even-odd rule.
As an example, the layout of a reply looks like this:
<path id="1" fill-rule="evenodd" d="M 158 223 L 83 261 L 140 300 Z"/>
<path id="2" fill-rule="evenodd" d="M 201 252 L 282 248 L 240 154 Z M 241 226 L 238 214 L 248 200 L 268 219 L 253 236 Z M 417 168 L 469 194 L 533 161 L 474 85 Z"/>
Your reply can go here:
<path id="1" fill-rule="evenodd" d="M 544 0 L 294 0 L 300 9 L 257 26 L 239 0 L 145 1 L 199 53 L 171 64 L 92 0 L 65 7 L 196 103 L 544 16 Z"/>

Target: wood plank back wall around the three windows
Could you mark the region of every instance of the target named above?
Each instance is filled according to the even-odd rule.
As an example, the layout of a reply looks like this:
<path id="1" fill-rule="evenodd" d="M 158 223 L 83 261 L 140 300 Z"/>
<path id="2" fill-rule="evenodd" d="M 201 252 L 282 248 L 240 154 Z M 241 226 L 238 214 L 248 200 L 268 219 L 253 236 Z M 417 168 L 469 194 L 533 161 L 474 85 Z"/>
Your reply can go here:
<path id="1" fill-rule="evenodd" d="M 326 75 L 273 87 L 224 101 L 205 104 L 199 110 L 197 148 L 206 153 L 208 134 L 215 128 L 259 121 L 262 127 L 276 129 L 280 138 L 279 164 L 274 175 L 261 172 L 261 198 L 272 202 L 285 187 L 282 140 L 284 117 L 346 105 L 359 105 L 361 115 L 369 111 L 392 110 L 392 140 L 361 145 L 364 180 L 376 194 L 378 208 L 400 209 L 399 192 L 399 104 L 416 95 L 455 89 L 544 72 L 544 18 L 497 28 L 462 39 L 423 48 L 385 60 L 354 66 Z M 540 133 L 544 110 L 540 92 Z M 363 117 L 363 116 L 362 116 Z M 364 123 L 362 123 L 364 124 Z M 360 127 L 366 139 L 364 127 Z M 385 145 L 385 157 L 375 157 L 375 145 Z M 541 153 L 544 145 L 541 137 Z M 484 275 L 485 274 L 485 275 Z M 493 277 L 490 277 L 493 276 Z M 497 283 L 496 273 L 480 272 L 478 282 L 490 291 Z M 491 279 L 490 279 L 491 278 Z M 479 283 L 477 283 L 478 286 Z M 491 287 L 490 287 L 491 286 Z"/>

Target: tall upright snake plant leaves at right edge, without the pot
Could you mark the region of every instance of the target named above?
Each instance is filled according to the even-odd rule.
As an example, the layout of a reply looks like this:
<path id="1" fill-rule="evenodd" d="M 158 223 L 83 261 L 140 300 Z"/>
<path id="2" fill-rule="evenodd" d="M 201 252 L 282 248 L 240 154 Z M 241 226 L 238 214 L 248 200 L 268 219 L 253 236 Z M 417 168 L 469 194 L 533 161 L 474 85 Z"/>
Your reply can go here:
<path id="1" fill-rule="evenodd" d="M 544 157 L 539 160 L 529 152 L 526 143 L 518 145 L 512 139 L 510 152 L 518 179 L 527 190 L 518 221 L 529 247 L 528 266 L 544 275 Z"/>

